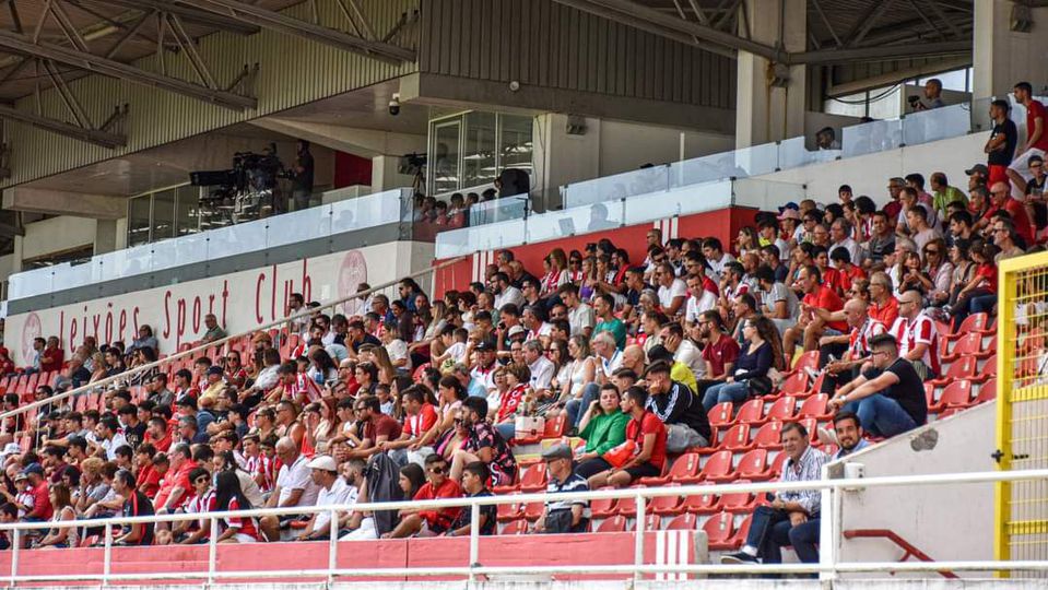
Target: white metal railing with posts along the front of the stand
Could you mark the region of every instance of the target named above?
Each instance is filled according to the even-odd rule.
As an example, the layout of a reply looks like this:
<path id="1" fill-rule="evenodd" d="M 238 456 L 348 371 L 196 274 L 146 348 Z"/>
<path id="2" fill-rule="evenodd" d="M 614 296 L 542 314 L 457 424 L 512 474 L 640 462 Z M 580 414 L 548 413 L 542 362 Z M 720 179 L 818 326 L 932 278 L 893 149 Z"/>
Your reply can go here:
<path id="1" fill-rule="evenodd" d="M 824 468 L 824 477 L 826 470 Z M 939 571 L 1048 571 L 1048 560 L 944 560 L 944 562 L 862 562 L 862 563 L 841 563 L 836 558 L 836 545 L 840 540 L 840 523 L 837 521 L 839 510 L 840 493 L 847 491 L 855 493 L 857 491 L 873 489 L 881 487 L 898 486 L 919 486 L 919 485 L 949 485 L 949 484 L 979 484 L 994 482 L 1015 482 L 1026 480 L 1044 480 L 1048 477 L 1048 470 L 1031 471 L 1008 471 L 1008 472 L 976 472 L 976 473 L 956 473 L 956 474 L 935 474 L 935 475 L 899 475 L 882 476 L 870 479 L 843 479 L 829 480 L 823 479 L 812 482 L 762 482 L 745 484 L 719 484 L 719 485 L 684 485 L 678 487 L 648 487 L 648 488 L 627 488 L 627 489 L 601 489 L 594 492 L 577 492 L 562 494 L 514 494 L 487 497 L 469 498 L 447 498 L 435 500 L 404 500 L 388 503 L 361 503 L 356 505 L 340 506 L 313 506 L 302 508 L 264 508 L 255 510 L 237 510 L 228 512 L 209 512 L 204 515 L 164 515 L 150 517 L 118 517 L 99 520 L 70 520 L 63 521 L 60 527 L 55 522 L 24 522 L 12 524 L 0 524 L 0 531 L 11 534 L 11 569 L 5 576 L 8 582 L 14 586 L 19 582 L 57 582 L 57 581 L 86 581 L 97 580 L 103 586 L 120 580 L 168 580 L 168 579 L 205 579 L 208 583 L 223 579 L 263 579 L 263 578 L 326 578 L 329 582 L 340 577 L 439 577 L 439 576 L 462 576 L 470 581 L 478 576 L 491 575 L 553 575 L 553 574 L 622 574 L 632 575 L 639 580 L 644 575 L 650 574 L 819 574 L 823 580 L 833 580 L 840 574 L 850 573 L 939 573 Z M 725 495 L 734 493 L 762 493 L 762 492 L 785 492 L 785 491 L 820 491 L 822 494 L 821 512 L 821 539 L 820 563 L 817 564 L 754 564 L 754 565 L 716 565 L 716 564 L 675 564 L 675 565 L 652 565 L 646 564 L 645 555 L 645 519 L 647 515 L 647 502 L 651 498 L 664 496 L 692 496 L 703 494 Z M 425 569 L 411 567 L 363 567 L 363 568 L 339 568 L 338 556 L 340 543 L 338 541 L 339 515 L 356 511 L 368 512 L 375 510 L 400 510 L 404 508 L 447 508 L 461 506 L 470 509 L 471 521 L 476 522 L 480 518 L 480 507 L 486 505 L 499 504 L 523 504 L 552 500 L 594 500 L 594 499 L 620 499 L 633 498 L 636 502 L 636 530 L 634 532 L 636 542 L 634 544 L 633 563 L 624 564 L 565 564 L 556 566 L 543 565 L 521 565 L 521 566 L 484 566 L 479 563 L 481 535 L 476 527 L 470 529 L 469 536 L 469 557 L 468 563 L 461 566 L 451 567 L 426 567 Z M 286 515 L 314 515 L 329 512 L 331 518 L 331 528 L 327 541 L 328 567 L 323 569 L 266 569 L 266 570 L 236 570 L 220 571 L 217 569 L 217 543 L 219 520 L 229 517 L 262 517 L 262 516 L 286 516 Z M 120 524 L 141 524 L 157 522 L 177 522 L 186 520 L 200 520 L 207 518 L 211 523 L 211 533 L 208 541 L 208 569 L 199 574 L 186 571 L 151 571 L 133 574 L 115 574 L 113 566 L 113 539 L 114 527 Z M 55 528 L 79 528 L 79 527 L 104 527 L 104 557 L 103 571 L 101 574 L 69 574 L 69 575 L 38 575 L 20 574 L 19 559 L 23 552 L 27 550 L 19 548 L 20 541 L 28 530 L 55 529 Z M 827 541 L 828 540 L 828 541 Z M 317 541 L 319 543 L 321 541 Z M 358 543 L 354 541 L 353 543 Z M 314 545 L 316 546 L 316 545 Z M 344 548 L 344 547 L 341 547 Z M 160 550 L 162 551 L 162 550 Z M 0 578 L 4 576 L 0 575 Z"/>

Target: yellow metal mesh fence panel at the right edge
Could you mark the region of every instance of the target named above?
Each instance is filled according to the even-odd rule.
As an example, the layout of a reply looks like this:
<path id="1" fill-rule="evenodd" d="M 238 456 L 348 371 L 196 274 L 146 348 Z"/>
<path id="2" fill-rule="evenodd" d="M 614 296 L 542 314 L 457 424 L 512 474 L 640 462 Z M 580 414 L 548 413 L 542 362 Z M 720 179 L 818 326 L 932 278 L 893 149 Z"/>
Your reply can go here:
<path id="1" fill-rule="evenodd" d="M 1048 252 L 1000 264 L 997 441 L 1001 470 L 1048 467 Z M 994 556 L 1048 559 L 1048 482 L 999 482 Z"/>

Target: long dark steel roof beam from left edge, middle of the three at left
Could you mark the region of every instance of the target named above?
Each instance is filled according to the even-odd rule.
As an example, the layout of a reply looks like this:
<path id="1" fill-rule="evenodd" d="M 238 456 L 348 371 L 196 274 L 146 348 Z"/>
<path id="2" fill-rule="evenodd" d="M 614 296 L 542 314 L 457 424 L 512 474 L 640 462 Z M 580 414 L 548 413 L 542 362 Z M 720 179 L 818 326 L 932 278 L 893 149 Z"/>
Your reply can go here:
<path id="1" fill-rule="evenodd" d="M 207 88 L 191 82 L 186 82 L 185 80 L 169 78 L 111 59 L 82 54 L 74 49 L 68 49 L 57 45 L 33 43 L 22 35 L 5 31 L 0 31 L 0 47 L 28 56 L 50 59 L 57 63 L 64 63 L 89 72 L 127 80 L 134 84 L 174 92 L 226 108 L 246 110 L 258 106 L 258 101 L 249 96 L 240 96 L 239 94 L 222 90 Z"/>

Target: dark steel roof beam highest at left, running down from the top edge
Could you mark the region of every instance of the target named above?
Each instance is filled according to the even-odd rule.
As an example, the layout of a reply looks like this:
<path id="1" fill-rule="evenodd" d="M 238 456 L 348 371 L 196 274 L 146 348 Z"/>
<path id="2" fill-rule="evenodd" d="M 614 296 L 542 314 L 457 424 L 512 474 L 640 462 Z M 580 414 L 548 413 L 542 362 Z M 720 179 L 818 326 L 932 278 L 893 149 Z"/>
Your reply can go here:
<path id="1" fill-rule="evenodd" d="M 207 10 L 215 14 L 255 24 L 263 28 L 295 35 L 343 49 L 363 52 L 368 57 L 399 66 L 403 61 L 414 61 L 415 51 L 388 43 L 368 40 L 334 28 L 301 21 L 280 12 L 273 12 L 237 0 L 174 0 L 175 5 Z"/>

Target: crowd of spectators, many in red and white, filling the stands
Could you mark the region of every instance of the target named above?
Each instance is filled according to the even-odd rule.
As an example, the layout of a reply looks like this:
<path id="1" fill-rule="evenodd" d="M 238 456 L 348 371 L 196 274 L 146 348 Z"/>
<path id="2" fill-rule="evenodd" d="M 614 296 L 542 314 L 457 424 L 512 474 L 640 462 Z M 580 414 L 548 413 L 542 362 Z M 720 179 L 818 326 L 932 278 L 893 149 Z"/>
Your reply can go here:
<path id="1" fill-rule="evenodd" d="M 629 486 L 716 445 L 710 411 L 774 393 L 802 350 L 819 351 L 808 370 L 836 417 L 819 433 L 784 426 L 782 477 L 817 477 L 829 457 L 810 435 L 839 457 L 926 423 L 923 381 L 942 374 L 940 330 L 993 312 L 1000 261 L 1043 248 L 1044 107 L 1028 86 L 1015 91 L 1033 135 L 1018 146 L 999 120 L 965 189 L 915 172 L 886 179 L 879 206 L 841 186 L 827 204 L 756 213 L 730 244 L 651 228 L 643 259 L 608 238 L 554 248 L 541 269 L 502 250 L 463 291 L 431 298 L 405 279 L 396 297 L 369 296 L 361 315 L 317 308 L 292 324 L 301 343 L 285 355 L 258 332 L 249 350 L 223 349 L 191 369 L 129 373 L 101 408 L 78 411 L 67 398 L 35 424 L 9 420 L 0 519 L 487 495 L 518 481 L 517 435 L 538 418 L 565 421 L 581 441 L 544 452 L 550 492 Z M 1006 115 L 1006 103 L 992 108 Z M 1016 151 L 1021 162 L 1004 157 Z M 305 307 L 292 296 L 292 311 Z M 224 337 L 207 322 L 209 341 Z M 46 399 L 155 361 L 149 327 L 138 337 L 126 347 L 86 339 L 69 359 L 57 339 L 42 340 L 24 370 L 60 370 L 39 386 Z M 20 402 L 8 394 L 4 409 Z M 817 518 L 817 493 L 779 494 L 732 558 L 774 562 L 791 544 L 811 560 Z M 586 503 L 550 503 L 535 530 L 584 531 L 589 519 Z M 479 522 L 458 508 L 216 522 L 125 527 L 116 542 L 460 535 L 474 526 L 491 534 L 495 509 Z M 56 524 L 23 540 L 57 547 L 95 535 Z"/>

